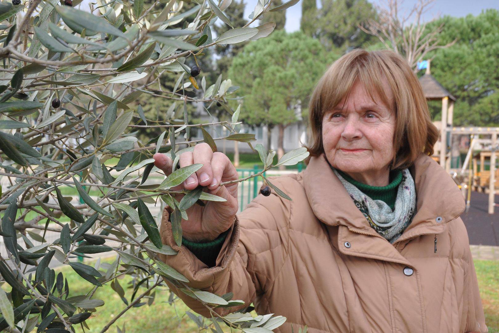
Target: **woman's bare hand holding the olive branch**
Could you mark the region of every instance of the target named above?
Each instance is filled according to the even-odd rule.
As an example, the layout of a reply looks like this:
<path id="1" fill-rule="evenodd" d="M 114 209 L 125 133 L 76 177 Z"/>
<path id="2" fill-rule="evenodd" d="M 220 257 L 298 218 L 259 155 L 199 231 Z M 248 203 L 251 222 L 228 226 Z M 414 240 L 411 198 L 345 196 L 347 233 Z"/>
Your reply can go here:
<path id="1" fill-rule="evenodd" d="M 168 176 L 172 173 L 173 161 L 165 154 L 154 154 L 154 165 Z M 201 163 L 201 169 L 193 173 L 182 184 L 172 188 L 174 191 L 193 190 L 203 186 L 204 191 L 226 199 L 224 202 L 204 201 L 205 206 L 194 204 L 187 209 L 189 221 L 182 219 L 182 234 L 193 242 L 208 242 L 231 228 L 238 212 L 238 183 L 220 186 L 221 182 L 239 179 L 236 168 L 229 158 L 220 152 L 214 153 L 207 143 L 200 143 L 194 151 L 180 155 L 180 167 Z M 176 199 L 180 201 L 184 194 Z M 172 207 L 174 208 L 174 207 Z"/>

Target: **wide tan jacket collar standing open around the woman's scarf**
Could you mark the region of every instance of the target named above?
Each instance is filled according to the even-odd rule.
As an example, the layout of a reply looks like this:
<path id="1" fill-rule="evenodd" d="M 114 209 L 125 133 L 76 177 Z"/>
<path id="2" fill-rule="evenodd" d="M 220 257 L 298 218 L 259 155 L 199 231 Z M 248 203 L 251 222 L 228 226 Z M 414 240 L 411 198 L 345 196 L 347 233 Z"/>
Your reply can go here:
<path id="1" fill-rule="evenodd" d="M 409 171 L 416 186 L 416 215 L 397 241 L 441 233 L 446 229 L 445 224 L 459 217 L 466 208 L 459 187 L 430 156 L 421 153 Z M 343 225 L 350 230 L 377 235 L 331 170 L 324 153 L 310 158 L 303 171 L 303 183 L 315 216 L 324 224 Z M 442 220 L 438 222 L 437 217 Z"/>

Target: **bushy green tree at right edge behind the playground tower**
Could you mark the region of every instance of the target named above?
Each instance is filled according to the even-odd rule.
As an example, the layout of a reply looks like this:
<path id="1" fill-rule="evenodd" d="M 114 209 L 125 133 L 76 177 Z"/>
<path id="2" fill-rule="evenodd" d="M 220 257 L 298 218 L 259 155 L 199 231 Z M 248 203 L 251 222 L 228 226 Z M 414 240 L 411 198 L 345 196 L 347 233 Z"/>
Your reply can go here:
<path id="1" fill-rule="evenodd" d="M 432 75 L 456 98 L 456 125 L 497 125 L 499 108 L 499 10 L 487 9 L 479 15 L 444 16 L 428 23 L 432 31 L 442 26 L 441 44 L 455 41 L 449 48 L 429 52 Z M 433 109 L 437 119 L 441 107 Z"/>

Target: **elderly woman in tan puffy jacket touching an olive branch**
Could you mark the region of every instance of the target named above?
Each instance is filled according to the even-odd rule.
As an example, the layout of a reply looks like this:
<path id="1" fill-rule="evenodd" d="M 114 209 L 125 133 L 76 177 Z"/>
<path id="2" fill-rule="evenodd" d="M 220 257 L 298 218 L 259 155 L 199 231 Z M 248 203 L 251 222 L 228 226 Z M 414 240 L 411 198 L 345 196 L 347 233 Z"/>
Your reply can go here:
<path id="1" fill-rule="evenodd" d="M 335 61 L 309 104 L 304 171 L 270 178 L 292 201 L 258 195 L 240 214 L 236 169 L 203 143 L 180 166 L 204 166 L 178 188 L 227 199 L 194 205 L 173 239 L 167 207 L 162 260 L 188 286 L 234 293 L 259 314 L 287 318 L 276 332 L 488 332 L 461 191 L 429 155 L 438 139 L 423 91 L 391 51 Z M 167 174 L 172 161 L 154 156 Z M 210 312 L 167 281 L 194 311 Z"/>

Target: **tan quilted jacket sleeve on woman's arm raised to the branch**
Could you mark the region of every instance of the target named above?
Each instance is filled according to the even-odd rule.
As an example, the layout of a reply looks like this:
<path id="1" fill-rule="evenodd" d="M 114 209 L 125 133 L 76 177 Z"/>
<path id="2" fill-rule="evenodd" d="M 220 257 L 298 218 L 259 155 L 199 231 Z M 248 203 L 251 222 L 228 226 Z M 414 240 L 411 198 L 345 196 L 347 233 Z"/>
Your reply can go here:
<path id="1" fill-rule="evenodd" d="M 272 179 L 272 183 L 286 192 L 278 180 Z M 214 309 L 219 315 L 225 316 L 247 308 L 273 283 L 287 253 L 285 240 L 288 239 L 289 218 L 288 200 L 279 197 L 274 190 L 268 197 L 259 194 L 242 213 L 235 216 L 235 222 L 216 257 L 215 266 L 208 267 L 185 245 L 180 248 L 176 245 L 169 212 L 165 208 L 161 221 L 162 242 L 178 253 L 158 256 L 189 280 L 187 286 L 220 296 L 232 292 L 233 300 L 245 302 L 244 306 Z M 184 288 L 183 285 L 164 280 L 189 308 L 210 318 L 210 311 L 201 302 L 180 290 Z"/>

